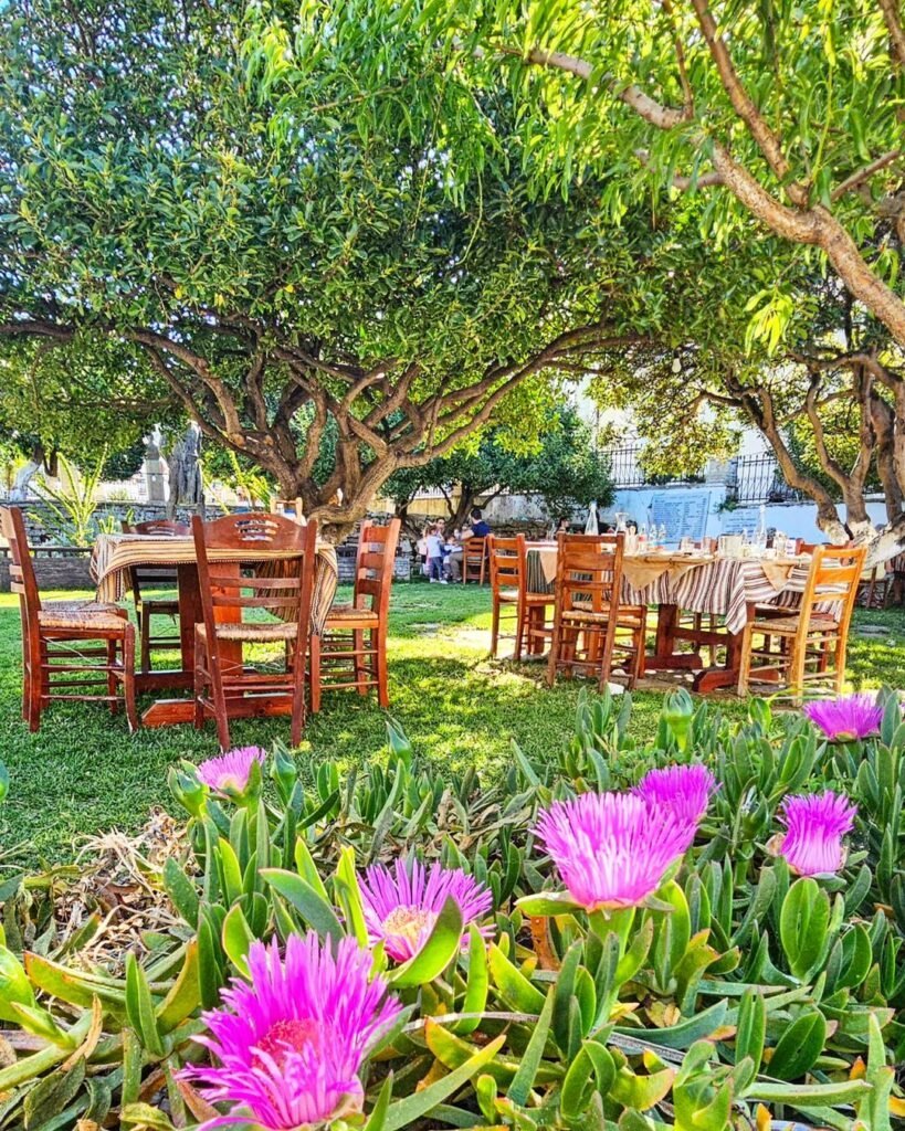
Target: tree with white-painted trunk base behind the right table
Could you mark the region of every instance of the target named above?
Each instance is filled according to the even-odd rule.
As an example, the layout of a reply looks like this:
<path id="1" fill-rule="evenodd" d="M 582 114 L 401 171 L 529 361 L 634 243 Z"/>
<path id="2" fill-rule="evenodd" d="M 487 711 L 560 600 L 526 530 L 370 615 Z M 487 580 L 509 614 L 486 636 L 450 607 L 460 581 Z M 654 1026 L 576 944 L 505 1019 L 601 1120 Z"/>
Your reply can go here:
<path id="1" fill-rule="evenodd" d="M 835 277 L 796 270 L 782 248 L 766 252 L 772 271 L 774 250 L 783 290 L 757 308 L 753 323 L 745 307 L 758 294 L 748 303 L 735 297 L 751 267 L 739 250 L 722 270 L 695 276 L 703 309 L 719 316 L 709 330 L 699 319 L 670 349 L 615 353 L 598 365 L 592 394 L 602 407 L 631 408 L 655 473 L 697 469 L 706 455 L 731 454 L 740 426 L 758 429 L 785 481 L 816 502 L 827 536 L 855 537 L 869 545 L 869 560 L 888 560 L 905 546 L 905 418 L 897 411 L 905 351 Z M 867 508 L 878 486 L 881 534 Z"/>

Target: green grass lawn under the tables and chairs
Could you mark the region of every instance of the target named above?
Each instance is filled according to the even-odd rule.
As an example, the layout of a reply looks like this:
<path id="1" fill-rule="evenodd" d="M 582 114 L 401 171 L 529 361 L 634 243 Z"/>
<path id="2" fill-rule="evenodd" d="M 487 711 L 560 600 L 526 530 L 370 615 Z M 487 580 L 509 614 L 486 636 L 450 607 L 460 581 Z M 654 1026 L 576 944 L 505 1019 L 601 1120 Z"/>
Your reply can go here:
<path id="1" fill-rule="evenodd" d="M 865 629 L 882 631 L 860 634 Z M 473 763 L 492 774 L 507 759 L 511 739 L 529 754 L 542 756 L 561 749 L 571 733 L 580 684 L 561 682 L 549 690 L 543 665 L 489 661 L 489 638 L 486 589 L 396 586 L 389 637 L 391 714 L 415 749 L 440 767 Z M 133 830 L 150 805 L 166 803 L 170 766 L 216 753 L 213 724 L 200 733 L 178 726 L 130 736 L 122 714 L 111 717 L 93 703 L 54 703 L 41 731 L 29 734 L 19 710 L 19 647 L 17 601 L 0 594 L 0 758 L 11 776 L 0 815 L 0 848 L 17 847 L 16 856 L 29 863 L 58 861 L 71 855 L 79 836 L 114 826 Z M 853 685 L 902 687 L 902 611 L 860 614 L 850 661 Z M 648 733 L 663 692 L 638 691 L 634 698 L 632 726 Z M 726 713 L 742 709 L 731 696 L 721 702 Z M 373 698 L 327 693 L 324 710 L 309 722 L 301 757 L 350 763 L 383 758 L 385 717 Z M 287 737 L 288 722 L 236 720 L 232 734 L 236 745 L 267 745 Z"/>

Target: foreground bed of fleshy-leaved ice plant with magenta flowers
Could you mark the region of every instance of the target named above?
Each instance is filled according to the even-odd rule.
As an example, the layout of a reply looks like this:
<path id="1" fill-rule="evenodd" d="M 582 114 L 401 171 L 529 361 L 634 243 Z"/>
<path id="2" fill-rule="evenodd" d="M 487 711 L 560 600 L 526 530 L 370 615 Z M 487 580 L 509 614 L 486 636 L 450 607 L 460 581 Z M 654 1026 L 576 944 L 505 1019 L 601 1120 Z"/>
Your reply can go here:
<path id="1" fill-rule="evenodd" d="M 645 743 L 630 710 L 583 698 L 491 786 L 395 724 L 345 777 L 173 770 L 184 852 L 148 882 L 180 925 L 122 969 L 84 960 L 101 909 L 61 936 L 52 884 L 0 892 L 0 1125 L 895 1125 L 896 696 L 739 724 L 680 692 Z"/>

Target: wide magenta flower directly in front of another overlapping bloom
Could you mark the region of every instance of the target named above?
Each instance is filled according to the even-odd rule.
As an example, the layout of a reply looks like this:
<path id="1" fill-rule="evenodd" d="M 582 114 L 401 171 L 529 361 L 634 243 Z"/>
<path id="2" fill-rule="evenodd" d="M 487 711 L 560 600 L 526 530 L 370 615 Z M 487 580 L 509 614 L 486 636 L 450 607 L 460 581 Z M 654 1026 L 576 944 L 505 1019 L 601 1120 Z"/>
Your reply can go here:
<path id="1" fill-rule="evenodd" d="M 587 910 L 637 907 L 660 887 L 696 824 L 666 805 L 630 793 L 583 793 L 558 801 L 537 821 L 537 837 L 569 895 Z"/>

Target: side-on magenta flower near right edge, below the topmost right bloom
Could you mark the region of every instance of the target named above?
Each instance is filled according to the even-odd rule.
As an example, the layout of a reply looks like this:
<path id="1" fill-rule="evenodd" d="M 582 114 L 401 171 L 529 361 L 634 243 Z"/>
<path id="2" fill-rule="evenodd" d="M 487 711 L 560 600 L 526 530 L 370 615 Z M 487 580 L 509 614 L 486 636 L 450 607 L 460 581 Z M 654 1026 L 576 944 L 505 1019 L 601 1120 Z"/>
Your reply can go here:
<path id="1" fill-rule="evenodd" d="M 813 793 L 786 797 L 779 820 L 785 834 L 778 852 L 799 875 L 825 875 L 845 863 L 842 838 L 851 832 L 857 805 L 842 794 Z"/>

